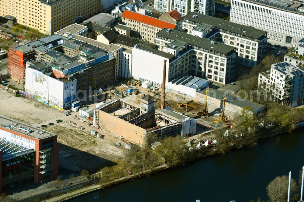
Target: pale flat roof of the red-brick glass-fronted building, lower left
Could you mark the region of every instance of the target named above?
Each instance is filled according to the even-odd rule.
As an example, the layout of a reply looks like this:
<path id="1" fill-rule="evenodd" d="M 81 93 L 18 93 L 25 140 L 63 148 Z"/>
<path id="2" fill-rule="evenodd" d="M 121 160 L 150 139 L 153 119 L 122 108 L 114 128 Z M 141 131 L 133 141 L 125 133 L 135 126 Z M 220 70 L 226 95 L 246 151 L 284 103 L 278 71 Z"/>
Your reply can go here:
<path id="1" fill-rule="evenodd" d="M 23 135 L 36 139 L 44 139 L 51 136 L 57 136 L 55 133 L 51 133 L 49 131 L 36 128 L 26 123 L 0 115 L 0 130 L 2 130 L 2 128 L 6 128 L 18 133 L 22 133 Z"/>

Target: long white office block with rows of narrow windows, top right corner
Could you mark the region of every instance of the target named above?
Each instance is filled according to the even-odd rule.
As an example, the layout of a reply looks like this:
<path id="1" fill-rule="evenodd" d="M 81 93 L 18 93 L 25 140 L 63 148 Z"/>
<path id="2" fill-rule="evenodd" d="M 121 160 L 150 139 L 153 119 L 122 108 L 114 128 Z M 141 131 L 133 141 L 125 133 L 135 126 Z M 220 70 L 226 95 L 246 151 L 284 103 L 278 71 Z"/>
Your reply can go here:
<path id="1" fill-rule="evenodd" d="M 290 47 L 304 36 L 304 8 L 289 0 L 232 0 L 230 21 L 268 32 L 268 42 Z"/>

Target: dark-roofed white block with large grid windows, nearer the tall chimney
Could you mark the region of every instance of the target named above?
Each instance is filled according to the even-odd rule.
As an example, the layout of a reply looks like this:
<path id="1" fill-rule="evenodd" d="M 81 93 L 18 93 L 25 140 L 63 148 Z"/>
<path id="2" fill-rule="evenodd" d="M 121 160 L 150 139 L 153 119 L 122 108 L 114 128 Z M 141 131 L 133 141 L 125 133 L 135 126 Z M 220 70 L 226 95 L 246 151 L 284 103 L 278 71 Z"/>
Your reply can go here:
<path id="1" fill-rule="evenodd" d="M 223 84 L 232 79 L 235 47 L 171 29 L 161 30 L 156 37 L 156 47 L 161 51 L 174 40 L 185 42 L 191 48 L 191 75 Z"/>

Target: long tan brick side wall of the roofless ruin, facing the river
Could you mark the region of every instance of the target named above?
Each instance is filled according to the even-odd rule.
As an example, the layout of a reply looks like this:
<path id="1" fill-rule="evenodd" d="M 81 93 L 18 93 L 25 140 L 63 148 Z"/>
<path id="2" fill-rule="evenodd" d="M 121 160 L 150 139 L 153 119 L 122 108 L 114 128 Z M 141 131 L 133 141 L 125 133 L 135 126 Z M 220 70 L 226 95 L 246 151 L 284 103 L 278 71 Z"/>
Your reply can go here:
<path id="1" fill-rule="evenodd" d="M 143 144 L 145 130 L 139 126 L 133 125 L 112 114 L 99 110 L 99 126 L 114 133 L 117 136 L 123 136 L 138 145 Z"/>

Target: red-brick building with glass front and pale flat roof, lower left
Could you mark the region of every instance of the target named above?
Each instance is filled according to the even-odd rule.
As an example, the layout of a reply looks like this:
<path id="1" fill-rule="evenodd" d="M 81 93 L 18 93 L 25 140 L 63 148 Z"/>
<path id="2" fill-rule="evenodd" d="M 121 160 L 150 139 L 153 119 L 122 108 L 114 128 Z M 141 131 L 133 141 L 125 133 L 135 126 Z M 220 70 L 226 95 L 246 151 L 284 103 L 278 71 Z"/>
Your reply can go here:
<path id="1" fill-rule="evenodd" d="M 57 135 L 0 115 L 0 192 L 58 176 Z"/>

